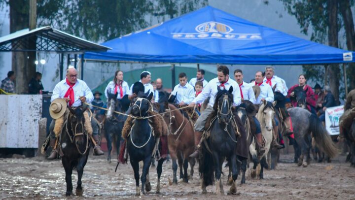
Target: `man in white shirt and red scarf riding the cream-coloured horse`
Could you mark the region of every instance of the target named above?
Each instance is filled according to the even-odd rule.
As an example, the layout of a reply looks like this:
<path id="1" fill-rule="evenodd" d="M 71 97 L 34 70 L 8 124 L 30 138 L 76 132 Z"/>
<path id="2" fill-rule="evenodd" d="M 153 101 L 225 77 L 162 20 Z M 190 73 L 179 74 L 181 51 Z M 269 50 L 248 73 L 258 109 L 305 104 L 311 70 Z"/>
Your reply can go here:
<path id="1" fill-rule="evenodd" d="M 255 101 L 255 105 L 257 105 L 257 108 L 259 107 L 259 104 L 265 100 L 269 101 L 269 102 L 274 101 L 273 90 L 269 84 L 267 84 L 266 82 L 263 82 L 263 75 L 262 75 L 261 71 L 257 71 L 255 73 L 255 85 L 260 87 L 260 95 L 259 95 L 259 97 L 257 97 L 257 99 Z M 276 148 L 283 148 L 283 146 L 280 145 L 279 142 L 277 141 L 278 129 L 279 129 L 279 122 L 277 121 L 277 119 L 275 119 L 275 126 L 274 126 L 274 132 L 273 132 L 274 139 L 273 139 L 272 145 Z"/>

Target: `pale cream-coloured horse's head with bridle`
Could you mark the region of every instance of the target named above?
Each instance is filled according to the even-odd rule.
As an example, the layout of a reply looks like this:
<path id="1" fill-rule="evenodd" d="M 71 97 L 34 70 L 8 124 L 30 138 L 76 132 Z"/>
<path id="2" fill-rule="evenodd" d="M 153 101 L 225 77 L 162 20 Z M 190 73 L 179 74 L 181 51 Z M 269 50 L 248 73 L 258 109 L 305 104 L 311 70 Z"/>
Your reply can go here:
<path id="1" fill-rule="evenodd" d="M 275 108 L 274 105 L 276 105 L 276 101 L 273 103 L 264 100 L 260 104 L 259 112 L 258 112 L 258 119 L 260 120 L 260 123 L 266 128 L 268 131 L 273 130 L 273 120 L 274 120 L 274 115 L 275 115 Z"/>

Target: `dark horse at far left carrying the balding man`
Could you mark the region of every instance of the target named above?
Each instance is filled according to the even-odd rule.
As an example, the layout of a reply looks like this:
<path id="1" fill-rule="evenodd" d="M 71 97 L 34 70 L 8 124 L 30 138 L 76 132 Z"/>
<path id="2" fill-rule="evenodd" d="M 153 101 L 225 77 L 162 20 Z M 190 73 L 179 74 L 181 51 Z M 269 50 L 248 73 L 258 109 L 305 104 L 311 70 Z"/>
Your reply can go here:
<path id="1" fill-rule="evenodd" d="M 66 195 L 72 195 L 71 173 L 76 168 L 78 180 L 75 194 L 81 196 L 83 193 L 81 177 L 90 151 L 90 138 L 84 131 L 85 118 L 83 113 L 87 106 L 83 105 L 82 108 L 69 109 L 70 113 L 68 119 L 64 122 L 64 128 L 59 140 L 60 152 L 63 153 L 62 164 L 66 172 Z"/>

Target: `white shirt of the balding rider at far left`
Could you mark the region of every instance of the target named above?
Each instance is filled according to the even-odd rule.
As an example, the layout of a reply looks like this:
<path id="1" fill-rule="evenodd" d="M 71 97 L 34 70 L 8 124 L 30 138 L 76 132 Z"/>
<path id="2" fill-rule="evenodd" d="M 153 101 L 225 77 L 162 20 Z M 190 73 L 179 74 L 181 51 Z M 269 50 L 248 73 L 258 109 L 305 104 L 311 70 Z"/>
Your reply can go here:
<path id="1" fill-rule="evenodd" d="M 67 93 L 69 89 L 69 85 L 67 84 L 66 79 L 57 83 L 57 85 L 53 89 L 53 94 L 51 97 L 51 102 L 57 98 L 64 98 L 64 95 Z M 77 107 L 81 105 L 81 100 L 79 97 L 84 96 L 86 98 L 87 103 L 91 103 L 94 100 L 94 95 L 92 94 L 90 88 L 86 85 L 86 83 L 80 79 L 76 79 L 76 83 L 73 86 L 74 90 L 74 103 L 73 107 Z"/>

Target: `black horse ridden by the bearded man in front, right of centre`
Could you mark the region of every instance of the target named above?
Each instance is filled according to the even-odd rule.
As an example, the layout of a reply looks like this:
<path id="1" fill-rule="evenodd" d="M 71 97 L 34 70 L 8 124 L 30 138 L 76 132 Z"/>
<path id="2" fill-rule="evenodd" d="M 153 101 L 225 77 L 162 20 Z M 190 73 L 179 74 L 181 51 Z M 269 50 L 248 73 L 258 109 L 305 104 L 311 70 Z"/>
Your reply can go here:
<path id="1" fill-rule="evenodd" d="M 216 179 L 216 194 L 224 195 L 223 184 L 220 180 L 223 161 L 228 161 L 229 168 L 232 170 L 232 178 L 234 184 L 230 187 L 228 194 L 236 194 L 235 180 L 238 177 L 237 171 L 237 136 L 232 127 L 234 116 L 232 113 L 233 104 L 233 87 L 229 90 L 221 90 L 218 92 L 213 105 L 216 119 L 211 124 L 210 136 L 202 143 L 201 160 L 199 172 L 202 177 L 202 193 L 207 193 L 206 187 L 213 184 L 213 173 Z M 211 165 L 213 164 L 213 165 Z"/>

